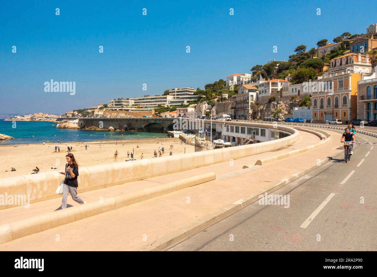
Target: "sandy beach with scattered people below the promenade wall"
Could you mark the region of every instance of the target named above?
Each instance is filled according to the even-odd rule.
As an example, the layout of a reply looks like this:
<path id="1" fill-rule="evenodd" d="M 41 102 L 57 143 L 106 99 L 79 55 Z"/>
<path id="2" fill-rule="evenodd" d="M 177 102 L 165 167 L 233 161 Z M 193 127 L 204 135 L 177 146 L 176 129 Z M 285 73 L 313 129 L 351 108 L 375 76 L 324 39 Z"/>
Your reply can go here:
<path id="1" fill-rule="evenodd" d="M 161 145 L 161 143 L 163 145 Z M 88 145 L 85 150 L 85 144 Z M 60 153 L 55 152 L 55 145 L 60 146 Z M 139 145 L 139 148 L 136 148 Z M 170 150 L 170 145 L 173 149 Z M 35 167 L 39 168 L 39 173 L 48 171 L 64 171 L 66 165 L 67 146 L 72 146 L 72 154 L 75 156 L 78 165 L 86 167 L 89 165 L 110 164 L 113 162 L 124 162 L 127 159 L 127 151 L 130 153 L 135 149 L 133 158 L 139 160 L 141 153 L 144 159 L 153 158 L 153 152 L 158 147 L 164 147 L 165 154 L 169 156 L 170 151 L 173 155 L 195 152 L 195 146 L 184 144 L 179 138 L 162 139 L 138 139 L 138 140 L 118 140 L 115 141 L 91 141 L 91 142 L 72 142 L 72 143 L 46 143 L 43 144 L 21 144 L 0 145 L 0 178 L 31 174 Z M 118 150 L 118 158 L 114 160 L 114 153 Z M 131 156 L 130 156 L 131 157 Z M 159 157 L 155 158 L 158 159 Z M 16 171 L 5 172 L 14 167 Z M 57 169 L 51 169 L 56 167 Z"/>

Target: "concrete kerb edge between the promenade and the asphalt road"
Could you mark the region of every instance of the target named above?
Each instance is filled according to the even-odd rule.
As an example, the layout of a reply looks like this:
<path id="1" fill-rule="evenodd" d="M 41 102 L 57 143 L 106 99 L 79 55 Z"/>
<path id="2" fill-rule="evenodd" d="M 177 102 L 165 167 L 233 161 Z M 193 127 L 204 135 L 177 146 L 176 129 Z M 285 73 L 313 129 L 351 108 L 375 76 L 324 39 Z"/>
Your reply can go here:
<path id="1" fill-rule="evenodd" d="M 340 155 L 342 153 L 343 150 L 340 151 L 337 155 Z M 179 228 L 178 230 L 175 230 L 167 234 L 166 236 L 160 237 L 159 239 L 149 243 L 148 245 L 136 249 L 136 251 L 166 251 L 169 248 L 172 248 L 178 243 L 184 241 L 185 239 L 188 239 L 190 236 L 198 234 L 199 232 L 205 230 L 209 226 L 219 222 L 220 220 L 230 216 L 231 214 L 236 213 L 236 211 L 239 211 L 242 208 L 250 205 L 251 203 L 259 200 L 259 195 L 264 195 L 266 192 L 267 194 L 270 194 L 273 191 L 278 190 L 284 185 L 300 178 L 301 176 L 307 174 L 311 170 L 321 166 L 322 164 L 325 164 L 328 161 L 328 158 L 322 159 L 319 162 L 319 164 L 316 163 L 311 165 L 307 169 L 297 171 L 296 173 L 291 174 L 287 178 L 283 178 L 280 181 L 277 181 L 276 183 L 268 186 L 267 188 L 257 191 L 257 193 L 245 196 L 242 199 L 239 199 L 233 202 L 232 204 L 227 205 L 224 208 L 221 208 L 211 214 L 208 214 L 207 216 L 202 217 L 201 219 L 198 219 L 192 223 L 183 226 L 182 228 Z"/>

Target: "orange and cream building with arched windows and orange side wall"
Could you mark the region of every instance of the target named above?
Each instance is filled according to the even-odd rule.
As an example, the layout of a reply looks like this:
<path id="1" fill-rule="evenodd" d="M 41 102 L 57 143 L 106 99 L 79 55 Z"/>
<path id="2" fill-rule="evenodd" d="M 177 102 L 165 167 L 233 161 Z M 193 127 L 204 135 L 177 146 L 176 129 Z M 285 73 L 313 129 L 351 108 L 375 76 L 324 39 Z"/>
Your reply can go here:
<path id="1" fill-rule="evenodd" d="M 349 53 L 331 60 L 329 72 L 318 77 L 312 92 L 314 122 L 339 118 L 345 123 L 357 118 L 357 82 L 370 75 L 368 55 Z"/>

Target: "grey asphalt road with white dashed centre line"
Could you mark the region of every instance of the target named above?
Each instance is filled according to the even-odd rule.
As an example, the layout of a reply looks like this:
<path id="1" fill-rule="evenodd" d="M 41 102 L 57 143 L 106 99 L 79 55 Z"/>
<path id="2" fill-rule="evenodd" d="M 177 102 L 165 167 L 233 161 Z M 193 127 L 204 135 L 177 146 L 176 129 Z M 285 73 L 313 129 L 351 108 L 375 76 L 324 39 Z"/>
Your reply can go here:
<path id="1" fill-rule="evenodd" d="M 376 251 L 377 138 L 356 139 L 348 163 L 333 157 L 274 191 L 289 208 L 255 202 L 169 251 Z"/>

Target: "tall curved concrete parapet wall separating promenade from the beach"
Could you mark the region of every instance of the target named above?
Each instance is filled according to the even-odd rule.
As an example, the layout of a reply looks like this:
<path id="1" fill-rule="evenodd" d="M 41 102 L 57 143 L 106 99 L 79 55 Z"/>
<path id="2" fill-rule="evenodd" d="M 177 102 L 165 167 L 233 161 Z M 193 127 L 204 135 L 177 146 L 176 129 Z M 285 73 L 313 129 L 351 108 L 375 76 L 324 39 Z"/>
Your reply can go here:
<path id="1" fill-rule="evenodd" d="M 219 121 L 224 123 L 223 121 Z M 270 128 L 270 124 L 232 122 L 239 126 Z M 150 158 L 113 164 L 92 165 L 79 168 L 78 192 L 97 190 L 126 182 L 138 181 L 204 165 L 244 158 L 245 156 L 276 150 L 293 144 L 299 138 L 299 132 L 291 127 L 277 125 L 274 130 L 290 133 L 290 136 L 257 144 L 240 145 L 222 149 Z M 0 194 L 25 191 L 30 195 L 30 203 L 57 198 L 55 190 L 63 175 L 56 171 L 23 175 L 0 179 Z M 22 194 L 25 194 L 22 193 Z M 18 193 L 17 193 L 18 194 Z M 0 206 L 0 209 L 6 208 Z"/>

